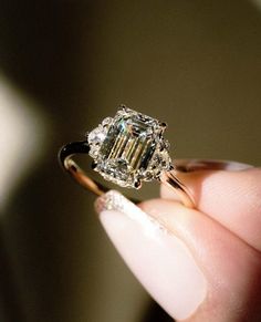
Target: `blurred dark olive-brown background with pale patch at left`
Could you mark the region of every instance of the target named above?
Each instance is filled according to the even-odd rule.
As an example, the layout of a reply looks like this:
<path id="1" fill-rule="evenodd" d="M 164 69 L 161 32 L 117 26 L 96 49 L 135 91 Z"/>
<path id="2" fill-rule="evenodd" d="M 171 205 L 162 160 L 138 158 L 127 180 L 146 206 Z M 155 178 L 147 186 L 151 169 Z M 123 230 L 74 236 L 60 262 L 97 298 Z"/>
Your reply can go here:
<path id="1" fill-rule="evenodd" d="M 1 1 L 0 321 L 170 321 L 58 149 L 125 103 L 176 158 L 260 165 L 260 85 L 258 0 Z"/>

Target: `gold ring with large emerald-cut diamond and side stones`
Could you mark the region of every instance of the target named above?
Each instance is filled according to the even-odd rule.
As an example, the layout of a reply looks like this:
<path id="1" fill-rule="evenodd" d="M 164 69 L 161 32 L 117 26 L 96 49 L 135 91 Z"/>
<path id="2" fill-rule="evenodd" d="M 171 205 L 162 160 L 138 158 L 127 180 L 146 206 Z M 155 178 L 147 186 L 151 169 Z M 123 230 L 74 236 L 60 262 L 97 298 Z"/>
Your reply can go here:
<path id="1" fill-rule="evenodd" d="M 88 154 L 92 168 L 105 180 L 139 189 L 143 181 L 158 180 L 171 187 L 187 207 L 194 207 L 188 188 L 178 179 L 178 169 L 169 156 L 169 143 L 163 134 L 166 123 L 121 105 L 114 117 L 85 135 L 82 142 L 63 146 L 59 153 L 62 167 L 82 186 L 101 196 L 107 191 L 73 160 L 74 154 Z"/>

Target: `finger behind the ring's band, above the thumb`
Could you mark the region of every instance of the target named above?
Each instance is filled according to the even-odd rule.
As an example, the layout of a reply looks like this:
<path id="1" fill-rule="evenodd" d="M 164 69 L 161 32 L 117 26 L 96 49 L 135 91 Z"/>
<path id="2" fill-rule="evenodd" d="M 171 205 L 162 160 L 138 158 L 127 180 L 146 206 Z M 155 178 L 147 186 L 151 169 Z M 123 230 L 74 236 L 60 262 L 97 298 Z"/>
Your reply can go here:
<path id="1" fill-rule="evenodd" d="M 196 208 L 261 250 L 261 169 L 196 172 L 179 178 L 190 189 Z M 161 185 L 161 197 L 177 199 Z"/>

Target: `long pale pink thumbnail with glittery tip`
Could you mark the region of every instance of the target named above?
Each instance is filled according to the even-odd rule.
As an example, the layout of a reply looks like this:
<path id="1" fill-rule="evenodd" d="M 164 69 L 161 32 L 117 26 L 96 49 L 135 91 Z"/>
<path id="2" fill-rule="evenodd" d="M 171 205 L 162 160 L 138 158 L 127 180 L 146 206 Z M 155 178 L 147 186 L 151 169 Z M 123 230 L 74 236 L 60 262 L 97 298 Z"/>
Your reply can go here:
<path id="1" fill-rule="evenodd" d="M 186 245 L 117 191 L 100 197 L 96 210 L 150 295 L 174 319 L 191 315 L 206 298 L 207 282 Z"/>

